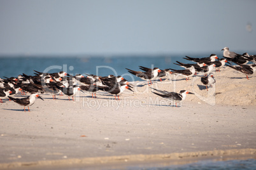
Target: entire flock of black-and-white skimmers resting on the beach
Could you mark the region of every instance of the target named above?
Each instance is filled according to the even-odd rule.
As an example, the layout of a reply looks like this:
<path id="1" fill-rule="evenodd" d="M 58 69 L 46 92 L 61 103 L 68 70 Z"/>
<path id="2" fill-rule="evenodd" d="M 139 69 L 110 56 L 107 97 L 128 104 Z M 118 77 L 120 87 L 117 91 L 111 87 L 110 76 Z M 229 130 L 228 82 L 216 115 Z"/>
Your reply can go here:
<path id="1" fill-rule="evenodd" d="M 247 79 L 248 75 L 252 75 L 256 71 L 256 55 L 248 55 L 248 53 L 239 55 L 238 53 L 229 51 L 229 48 L 227 47 L 222 50 L 224 51 L 224 58 L 221 59 L 215 54 L 211 54 L 209 57 L 204 58 L 185 56 L 186 60 L 194 63 L 181 63 L 176 61 L 174 64 L 185 68 L 181 70 L 170 68 L 160 70 L 157 67 L 150 69 L 143 66 L 139 66 L 139 69 L 142 71 L 127 70 L 129 73 L 146 80 L 148 86 L 152 84 L 153 79 L 159 78 L 160 81 L 162 81 L 163 77 L 168 77 L 171 74 L 185 77 L 187 80 L 196 75 L 201 77 L 201 82 L 206 86 L 207 90 L 208 86 L 211 86 L 216 82 L 215 77 L 213 76 L 214 67 L 216 72 L 219 72 L 224 65 L 227 65 L 228 67 L 245 74 Z M 252 64 L 247 64 L 248 62 L 252 62 Z M 236 65 L 232 65 L 232 63 L 235 63 Z M 62 94 L 67 95 L 69 100 L 72 96 L 72 100 L 74 100 L 73 96 L 75 96 L 78 91 L 82 91 L 82 93 L 88 91 L 92 93 L 92 98 L 96 98 L 96 92 L 101 90 L 115 95 L 115 100 L 120 100 L 119 95 L 122 94 L 125 89 L 132 91 L 131 84 L 120 75 L 101 77 L 98 75 L 87 74 L 87 77 L 85 77 L 81 74 L 76 74 L 75 76 L 69 75 L 66 72 L 50 74 L 38 72 L 36 70 L 34 70 L 34 74 L 35 75 L 22 74 L 18 75 L 18 77 L 4 77 L 5 79 L 0 78 L 0 102 L 3 103 L 2 99 L 9 98 L 9 100 L 24 106 L 24 111 L 25 107 L 28 107 L 28 111 L 30 111 L 29 106 L 34 103 L 36 98 L 43 100 L 38 93 L 48 93 L 53 96 L 53 100 L 56 99 L 56 95 Z M 153 94 L 174 101 L 183 101 L 187 94 L 194 94 L 186 90 L 181 90 L 180 93 L 176 93 L 154 88 L 151 89 L 153 89 Z M 25 95 L 25 93 L 31 95 L 25 98 L 14 98 L 13 95 L 17 95 L 19 91 L 23 95 Z"/>

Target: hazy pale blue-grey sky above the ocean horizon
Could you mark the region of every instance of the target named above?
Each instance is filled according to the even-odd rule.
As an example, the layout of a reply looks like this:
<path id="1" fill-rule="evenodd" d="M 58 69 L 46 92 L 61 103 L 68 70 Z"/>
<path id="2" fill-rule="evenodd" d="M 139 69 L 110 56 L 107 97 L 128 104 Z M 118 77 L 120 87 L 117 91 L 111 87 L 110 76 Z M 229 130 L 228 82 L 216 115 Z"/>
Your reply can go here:
<path id="1" fill-rule="evenodd" d="M 0 0 L 0 55 L 256 51 L 256 1 Z"/>

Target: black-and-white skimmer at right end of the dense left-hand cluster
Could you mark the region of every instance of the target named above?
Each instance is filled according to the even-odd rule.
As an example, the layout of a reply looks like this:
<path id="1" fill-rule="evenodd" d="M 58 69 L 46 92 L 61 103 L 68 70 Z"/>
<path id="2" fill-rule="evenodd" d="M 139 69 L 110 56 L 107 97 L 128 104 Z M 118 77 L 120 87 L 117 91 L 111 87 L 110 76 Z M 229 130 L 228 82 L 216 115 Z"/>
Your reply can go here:
<path id="1" fill-rule="evenodd" d="M 98 86 L 98 88 L 102 91 L 106 91 L 112 95 L 115 95 L 115 100 L 117 100 L 117 97 L 118 97 L 118 100 L 119 99 L 119 95 L 124 93 L 124 90 L 125 89 L 129 89 L 132 91 L 131 88 L 129 88 L 129 86 L 125 83 L 118 83 L 118 86 L 115 86 L 115 87 L 109 87 L 109 86 Z M 133 92 L 133 91 L 132 91 Z M 117 96 L 117 97 L 116 97 Z"/>

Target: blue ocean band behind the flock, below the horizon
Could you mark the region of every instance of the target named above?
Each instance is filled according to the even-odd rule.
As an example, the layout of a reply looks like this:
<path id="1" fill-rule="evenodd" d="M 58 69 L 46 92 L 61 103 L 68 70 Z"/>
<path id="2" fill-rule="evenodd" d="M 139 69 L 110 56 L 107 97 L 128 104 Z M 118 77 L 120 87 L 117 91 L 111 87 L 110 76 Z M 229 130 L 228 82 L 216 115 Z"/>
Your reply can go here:
<path id="1" fill-rule="evenodd" d="M 208 55 L 188 55 L 192 57 L 205 57 Z M 183 59 L 185 55 L 169 56 L 113 56 L 113 57 L 44 57 L 44 56 L 1 56 L 0 78 L 17 77 L 19 74 L 34 75 L 34 70 L 39 72 L 60 72 L 68 74 L 96 74 L 122 75 L 128 81 L 141 81 L 138 77 L 129 74 L 127 69 L 140 70 L 138 66 L 148 68 L 159 67 L 159 69 L 183 69 L 174 62 L 194 63 Z"/>

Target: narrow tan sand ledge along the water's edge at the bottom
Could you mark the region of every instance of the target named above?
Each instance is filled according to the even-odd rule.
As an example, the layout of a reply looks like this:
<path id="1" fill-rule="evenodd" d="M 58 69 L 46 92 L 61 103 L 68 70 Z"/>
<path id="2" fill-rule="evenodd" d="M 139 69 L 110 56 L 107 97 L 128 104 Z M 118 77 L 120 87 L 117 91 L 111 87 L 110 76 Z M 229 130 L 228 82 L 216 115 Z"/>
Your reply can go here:
<path id="1" fill-rule="evenodd" d="M 0 164 L 1 169 L 73 169 L 81 167 L 94 167 L 101 169 L 107 167 L 119 169 L 134 167 L 161 167 L 190 164 L 203 160 L 226 161 L 256 159 L 256 149 L 209 150 L 204 152 L 185 152 L 157 155 L 122 155 L 113 157 L 85 157 L 79 159 L 43 160 L 38 162 L 11 162 Z"/>

